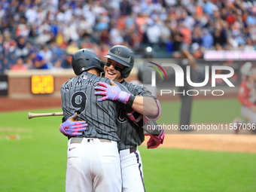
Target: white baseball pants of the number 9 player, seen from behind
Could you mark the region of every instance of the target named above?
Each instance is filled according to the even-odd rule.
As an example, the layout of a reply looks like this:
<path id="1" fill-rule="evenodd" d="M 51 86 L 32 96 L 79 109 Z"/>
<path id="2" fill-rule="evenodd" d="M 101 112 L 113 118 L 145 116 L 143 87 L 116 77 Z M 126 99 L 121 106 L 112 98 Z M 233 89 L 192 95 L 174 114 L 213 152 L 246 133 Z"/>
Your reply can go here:
<path id="1" fill-rule="evenodd" d="M 72 139 L 68 142 L 66 192 L 120 192 L 117 142 L 83 138 L 79 143 Z"/>

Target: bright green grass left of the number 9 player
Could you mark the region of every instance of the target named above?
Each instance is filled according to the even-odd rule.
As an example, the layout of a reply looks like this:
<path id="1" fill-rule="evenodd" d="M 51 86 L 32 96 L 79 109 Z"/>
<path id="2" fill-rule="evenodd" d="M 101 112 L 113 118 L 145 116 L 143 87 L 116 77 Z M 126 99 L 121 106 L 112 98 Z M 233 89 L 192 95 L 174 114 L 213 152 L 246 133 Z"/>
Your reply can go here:
<path id="1" fill-rule="evenodd" d="M 58 130 L 61 117 L 29 120 L 28 112 L 0 114 L 0 129 L 14 129 L 0 132 L 0 191 L 65 191 L 67 139 Z M 17 134 L 20 140 L 4 138 Z"/>

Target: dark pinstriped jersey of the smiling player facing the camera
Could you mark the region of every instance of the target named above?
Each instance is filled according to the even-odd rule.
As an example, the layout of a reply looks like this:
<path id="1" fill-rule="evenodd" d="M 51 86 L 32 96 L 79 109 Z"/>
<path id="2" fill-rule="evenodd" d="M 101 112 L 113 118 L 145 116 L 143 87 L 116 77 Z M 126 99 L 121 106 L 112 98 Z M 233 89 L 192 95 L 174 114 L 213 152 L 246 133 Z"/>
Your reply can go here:
<path id="1" fill-rule="evenodd" d="M 148 96 L 156 99 L 145 87 L 137 84 L 130 84 L 126 81 L 121 82 L 121 84 L 123 84 L 134 96 Z M 144 130 L 139 126 L 136 126 L 131 120 L 127 119 L 121 110 L 119 111 L 117 118 L 117 127 L 117 136 L 120 138 L 118 144 L 119 150 L 133 148 L 144 142 Z"/>

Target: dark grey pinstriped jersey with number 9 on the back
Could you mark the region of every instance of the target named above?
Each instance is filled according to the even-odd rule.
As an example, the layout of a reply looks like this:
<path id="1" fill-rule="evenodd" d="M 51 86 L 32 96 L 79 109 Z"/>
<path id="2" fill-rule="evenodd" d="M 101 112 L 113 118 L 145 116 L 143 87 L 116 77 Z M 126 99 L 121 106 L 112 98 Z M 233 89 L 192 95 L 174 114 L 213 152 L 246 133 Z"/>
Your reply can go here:
<path id="1" fill-rule="evenodd" d="M 102 97 L 94 94 L 96 91 L 94 87 L 98 86 L 99 81 L 110 84 L 108 78 L 101 78 L 87 72 L 62 84 L 60 93 L 64 120 L 77 111 L 76 120 L 86 120 L 88 123 L 87 130 L 82 136 L 118 142 L 120 139 L 117 136 L 116 121 L 120 104 L 110 100 L 97 101 Z M 118 83 L 117 85 L 121 90 L 129 93 L 126 87 Z"/>

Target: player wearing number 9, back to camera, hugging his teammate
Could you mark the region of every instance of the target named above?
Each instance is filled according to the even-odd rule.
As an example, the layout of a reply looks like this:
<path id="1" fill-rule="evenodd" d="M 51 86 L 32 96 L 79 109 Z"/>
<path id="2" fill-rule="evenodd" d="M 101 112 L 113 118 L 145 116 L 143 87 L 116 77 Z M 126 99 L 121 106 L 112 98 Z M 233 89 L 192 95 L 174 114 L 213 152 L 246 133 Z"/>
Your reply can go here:
<path id="1" fill-rule="evenodd" d="M 72 57 L 72 67 L 78 76 L 61 87 L 64 120 L 75 113 L 78 124 L 87 120 L 87 125 L 82 128 L 76 126 L 78 130 L 72 133 L 82 131 L 80 136 L 73 135 L 68 142 L 66 191 L 121 191 L 120 157 L 117 150 L 120 139 L 115 123 L 119 103 L 98 102 L 100 97 L 94 94 L 94 87 L 99 81 L 110 83 L 108 78 L 99 77 L 102 66 L 102 61 L 92 50 L 78 50 Z M 121 84 L 119 87 L 126 95 L 118 99 L 124 103 L 129 102 L 126 98 L 130 96 L 128 90 Z M 72 121 L 72 118 L 69 120 Z M 69 135 L 63 124 L 60 130 Z"/>

